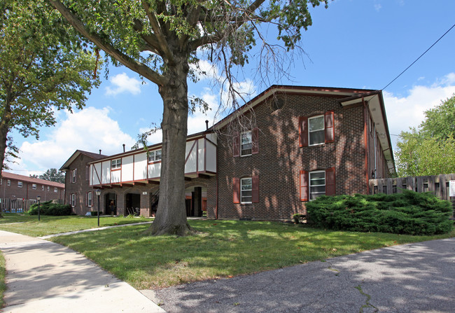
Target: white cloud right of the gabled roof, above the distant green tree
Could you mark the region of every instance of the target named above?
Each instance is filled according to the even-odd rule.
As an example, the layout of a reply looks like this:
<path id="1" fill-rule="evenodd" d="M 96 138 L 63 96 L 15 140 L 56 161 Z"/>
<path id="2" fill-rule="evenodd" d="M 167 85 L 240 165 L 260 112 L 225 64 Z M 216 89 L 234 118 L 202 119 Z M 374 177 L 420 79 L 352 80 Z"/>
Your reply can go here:
<path id="1" fill-rule="evenodd" d="M 388 130 L 398 135 L 409 127 L 417 127 L 425 117 L 424 112 L 439 105 L 455 93 L 455 73 L 450 73 L 430 86 L 415 85 L 406 97 L 398 97 L 384 91 Z M 391 136 L 393 146 L 398 139 Z"/>

